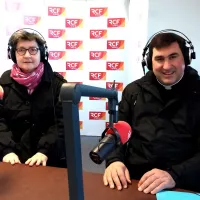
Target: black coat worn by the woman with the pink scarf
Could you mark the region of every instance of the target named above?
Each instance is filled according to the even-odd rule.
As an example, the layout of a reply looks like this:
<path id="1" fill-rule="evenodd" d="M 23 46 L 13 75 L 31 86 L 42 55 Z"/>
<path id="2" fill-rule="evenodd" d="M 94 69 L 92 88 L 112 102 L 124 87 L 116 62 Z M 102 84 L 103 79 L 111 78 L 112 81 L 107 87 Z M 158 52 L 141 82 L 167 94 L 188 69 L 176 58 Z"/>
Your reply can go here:
<path id="1" fill-rule="evenodd" d="M 41 152 L 47 155 L 49 162 L 55 160 L 55 156 L 61 156 L 57 142 L 64 136 L 59 93 L 66 80 L 45 63 L 41 82 L 29 95 L 25 86 L 10 77 L 10 72 L 4 72 L 0 78 L 4 89 L 0 104 L 1 159 L 15 152 L 21 162 L 25 162 Z"/>

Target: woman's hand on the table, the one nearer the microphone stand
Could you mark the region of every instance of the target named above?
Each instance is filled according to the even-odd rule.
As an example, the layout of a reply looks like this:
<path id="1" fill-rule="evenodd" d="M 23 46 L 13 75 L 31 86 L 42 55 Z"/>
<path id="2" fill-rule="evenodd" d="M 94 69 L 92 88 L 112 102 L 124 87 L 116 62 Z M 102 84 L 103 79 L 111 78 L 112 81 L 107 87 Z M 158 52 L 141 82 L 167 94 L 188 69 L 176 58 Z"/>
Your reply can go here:
<path id="1" fill-rule="evenodd" d="M 34 156 L 29 158 L 25 162 L 25 164 L 29 165 L 29 166 L 33 166 L 34 164 L 37 165 L 37 166 L 40 165 L 40 164 L 42 164 L 43 166 L 46 166 L 47 160 L 48 160 L 48 157 L 46 155 L 44 155 L 43 153 L 39 153 L 38 152 Z"/>

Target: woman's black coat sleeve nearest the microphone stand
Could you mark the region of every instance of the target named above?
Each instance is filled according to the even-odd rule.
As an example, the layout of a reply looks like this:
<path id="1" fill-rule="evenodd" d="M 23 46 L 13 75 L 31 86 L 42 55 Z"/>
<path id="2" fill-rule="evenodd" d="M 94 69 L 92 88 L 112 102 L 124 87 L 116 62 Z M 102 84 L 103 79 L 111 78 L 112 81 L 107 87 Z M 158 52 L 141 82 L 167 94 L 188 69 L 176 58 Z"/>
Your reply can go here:
<path id="1" fill-rule="evenodd" d="M 59 139 L 64 140 L 63 111 L 59 95 L 62 84 L 66 82 L 67 81 L 65 79 L 62 79 L 56 92 L 57 103 L 54 108 L 55 123 L 47 129 L 38 142 L 38 152 L 47 156 L 50 149 L 55 146 L 55 143 L 58 142 Z"/>

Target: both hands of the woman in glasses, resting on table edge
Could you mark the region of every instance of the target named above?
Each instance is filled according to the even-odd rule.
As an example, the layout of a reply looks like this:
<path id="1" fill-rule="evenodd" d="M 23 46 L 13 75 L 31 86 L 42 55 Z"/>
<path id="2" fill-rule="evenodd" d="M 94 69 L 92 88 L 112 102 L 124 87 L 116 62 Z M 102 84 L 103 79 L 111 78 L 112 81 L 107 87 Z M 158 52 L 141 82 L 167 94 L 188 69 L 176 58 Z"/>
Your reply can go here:
<path id="1" fill-rule="evenodd" d="M 32 156 L 31 158 L 29 158 L 25 164 L 29 165 L 29 166 L 33 166 L 33 165 L 42 165 L 42 166 L 46 166 L 48 157 L 46 155 L 44 155 L 43 153 L 36 153 L 34 156 Z M 15 153 L 8 153 L 6 154 L 3 159 L 3 162 L 7 162 L 7 163 L 11 163 L 12 165 L 16 164 L 16 163 L 21 163 L 19 160 L 19 157 L 15 154 Z"/>

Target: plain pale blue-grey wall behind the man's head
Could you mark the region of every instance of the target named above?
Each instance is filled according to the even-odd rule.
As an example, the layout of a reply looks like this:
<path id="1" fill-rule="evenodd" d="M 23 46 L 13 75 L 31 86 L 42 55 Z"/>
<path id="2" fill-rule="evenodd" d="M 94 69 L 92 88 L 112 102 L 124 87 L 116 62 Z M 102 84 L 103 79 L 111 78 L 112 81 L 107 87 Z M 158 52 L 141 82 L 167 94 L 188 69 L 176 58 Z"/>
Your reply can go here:
<path id="1" fill-rule="evenodd" d="M 192 66 L 200 72 L 199 9 L 199 0 L 149 0 L 148 37 L 167 28 L 183 32 L 194 45 Z"/>

